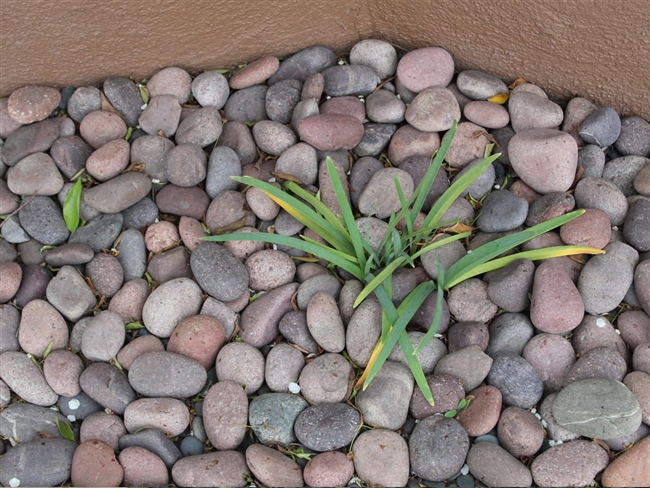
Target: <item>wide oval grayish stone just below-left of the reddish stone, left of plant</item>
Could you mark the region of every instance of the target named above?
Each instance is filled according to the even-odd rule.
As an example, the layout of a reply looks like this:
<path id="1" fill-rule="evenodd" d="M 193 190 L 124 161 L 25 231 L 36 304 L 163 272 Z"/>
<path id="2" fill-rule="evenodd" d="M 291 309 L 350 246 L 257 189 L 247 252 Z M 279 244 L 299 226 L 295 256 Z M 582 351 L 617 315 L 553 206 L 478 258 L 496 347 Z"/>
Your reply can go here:
<path id="1" fill-rule="evenodd" d="M 191 397 L 201 391 L 206 379 L 201 364 L 173 352 L 146 352 L 129 369 L 129 384 L 149 397 Z"/>

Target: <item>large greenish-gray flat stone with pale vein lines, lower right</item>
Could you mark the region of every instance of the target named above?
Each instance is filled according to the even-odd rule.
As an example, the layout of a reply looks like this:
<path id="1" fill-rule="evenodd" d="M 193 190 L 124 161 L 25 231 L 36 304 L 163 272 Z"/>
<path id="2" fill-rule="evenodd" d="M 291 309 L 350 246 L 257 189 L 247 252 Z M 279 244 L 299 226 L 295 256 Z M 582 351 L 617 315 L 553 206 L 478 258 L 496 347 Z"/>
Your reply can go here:
<path id="1" fill-rule="evenodd" d="M 630 435 L 641 423 L 641 407 L 622 383 L 606 378 L 575 381 L 553 402 L 553 417 L 565 429 L 594 439 Z"/>

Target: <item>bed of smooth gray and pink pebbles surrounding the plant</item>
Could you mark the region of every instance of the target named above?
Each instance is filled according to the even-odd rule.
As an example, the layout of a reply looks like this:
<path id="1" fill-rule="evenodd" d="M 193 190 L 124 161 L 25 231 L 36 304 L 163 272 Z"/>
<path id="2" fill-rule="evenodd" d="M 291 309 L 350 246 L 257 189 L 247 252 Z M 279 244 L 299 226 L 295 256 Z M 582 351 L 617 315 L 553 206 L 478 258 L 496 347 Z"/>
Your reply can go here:
<path id="1" fill-rule="evenodd" d="M 400 209 L 394 179 L 412 191 L 454 120 L 424 211 L 489 144 L 501 156 L 431 239 L 471 237 L 395 271 L 396 306 L 436 261 L 574 209 L 521 250 L 605 253 L 447 290 L 417 356 L 435 405 L 399 348 L 357 391 L 382 331 L 374 296 L 352 306 L 360 281 L 297 249 L 201 238 L 318 241 L 231 177 L 294 181 L 337 213 L 329 156 L 376 242 Z M 642 118 L 364 40 L 194 78 L 26 86 L 1 101 L 0 139 L 2 485 L 650 485 Z"/>

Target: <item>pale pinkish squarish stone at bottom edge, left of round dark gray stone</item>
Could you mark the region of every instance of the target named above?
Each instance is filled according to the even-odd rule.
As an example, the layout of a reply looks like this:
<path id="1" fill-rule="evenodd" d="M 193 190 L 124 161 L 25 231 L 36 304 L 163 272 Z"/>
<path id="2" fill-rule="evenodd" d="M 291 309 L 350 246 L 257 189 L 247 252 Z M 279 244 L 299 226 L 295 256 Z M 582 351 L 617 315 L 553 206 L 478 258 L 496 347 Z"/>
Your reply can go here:
<path id="1" fill-rule="evenodd" d="M 409 452 L 396 432 L 375 429 L 363 432 L 352 450 L 357 476 L 369 485 L 406 486 Z"/>

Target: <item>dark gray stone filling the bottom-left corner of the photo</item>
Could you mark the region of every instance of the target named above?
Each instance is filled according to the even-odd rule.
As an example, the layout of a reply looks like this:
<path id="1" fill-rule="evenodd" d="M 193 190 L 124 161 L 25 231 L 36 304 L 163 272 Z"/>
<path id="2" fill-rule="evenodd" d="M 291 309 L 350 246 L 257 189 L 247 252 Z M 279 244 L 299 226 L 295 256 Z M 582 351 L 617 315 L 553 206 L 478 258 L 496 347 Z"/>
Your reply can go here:
<path id="1" fill-rule="evenodd" d="M 67 439 L 22 442 L 0 459 L 3 486 L 58 486 L 70 478 L 77 444 Z M 13 482 L 13 483 L 12 483 Z"/>

